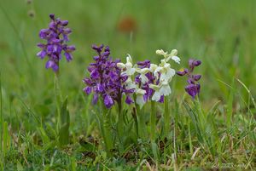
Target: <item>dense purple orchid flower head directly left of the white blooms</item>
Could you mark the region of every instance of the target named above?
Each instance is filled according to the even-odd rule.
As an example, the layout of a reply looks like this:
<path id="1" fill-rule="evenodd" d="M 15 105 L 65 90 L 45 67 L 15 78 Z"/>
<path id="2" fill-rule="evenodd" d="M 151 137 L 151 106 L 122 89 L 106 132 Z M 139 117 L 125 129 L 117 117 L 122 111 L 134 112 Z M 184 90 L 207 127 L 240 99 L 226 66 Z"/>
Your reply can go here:
<path id="1" fill-rule="evenodd" d="M 93 96 L 93 104 L 96 104 L 99 97 L 107 108 L 111 108 L 114 105 L 114 101 L 121 102 L 123 88 L 121 82 L 127 79 L 127 77 L 121 77 L 121 71 L 117 67 L 119 60 L 112 60 L 109 57 L 110 50 L 103 45 L 93 45 L 92 48 L 96 51 L 97 55 L 94 56 L 94 63 L 90 63 L 88 71 L 90 77 L 84 78 L 84 83 L 87 87 L 84 88 L 86 94 L 91 92 L 95 93 Z M 104 49 L 104 50 L 103 50 Z M 128 99 L 129 103 L 131 99 Z"/>

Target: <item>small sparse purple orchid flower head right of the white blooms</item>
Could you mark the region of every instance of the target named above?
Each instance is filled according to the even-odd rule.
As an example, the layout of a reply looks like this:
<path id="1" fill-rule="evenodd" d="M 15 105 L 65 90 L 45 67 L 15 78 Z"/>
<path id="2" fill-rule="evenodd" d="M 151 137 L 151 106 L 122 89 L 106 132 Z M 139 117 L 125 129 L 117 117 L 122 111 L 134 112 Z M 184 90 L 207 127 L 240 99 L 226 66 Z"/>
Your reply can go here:
<path id="1" fill-rule="evenodd" d="M 177 71 L 179 76 L 188 76 L 187 82 L 189 85 L 185 87 L 185 91 L 195 99 L 195 96 L 200 93 L 200 83 L 198 82 L 201 79 L 201 75 L 194 75 L 193 71 L 195 66 L 200 66 L 201 60 L 189 60 L 189 69 L 185 68 L 183 71 Z"/>

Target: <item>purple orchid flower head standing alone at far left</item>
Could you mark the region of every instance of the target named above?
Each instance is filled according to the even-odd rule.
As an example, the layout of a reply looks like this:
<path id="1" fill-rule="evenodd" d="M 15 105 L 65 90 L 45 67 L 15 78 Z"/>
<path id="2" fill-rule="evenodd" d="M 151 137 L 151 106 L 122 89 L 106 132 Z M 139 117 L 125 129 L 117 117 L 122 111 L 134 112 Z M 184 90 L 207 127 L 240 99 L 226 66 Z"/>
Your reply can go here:
<path id="1" fill-rule="evenodd" d="M 66 28 L 68 21 L 55 18 L 55 14 L 49 14 L 50 23 L 49 28 L 42 29 L 39 32 L 39 37 L 47 41 L 47 43 L 38 43 L 38 47 L 42 50 L 38 52 L 38 57 L 44 59 L 47 55 L 49 60 L 46 62 L 45 67 L 52 68 L 53 71 L 59 70 L 59 60 L 64 51 L 66 60 L 69 62 L 73 60 L 72 52 L 76 49 L 73 45 L 68 46 L 68 35 L 72 32 Z"/>

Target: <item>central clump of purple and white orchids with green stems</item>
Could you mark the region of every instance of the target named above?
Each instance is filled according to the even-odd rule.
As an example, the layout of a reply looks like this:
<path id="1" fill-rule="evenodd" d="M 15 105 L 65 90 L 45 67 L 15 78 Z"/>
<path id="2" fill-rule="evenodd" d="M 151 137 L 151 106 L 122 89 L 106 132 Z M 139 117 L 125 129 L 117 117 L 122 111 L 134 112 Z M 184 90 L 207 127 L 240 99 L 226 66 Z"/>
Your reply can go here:
<path id="1" fill-rule="evenodd" d="M 201 78 L 200 75 L 193 75 L 195 66 L 201 64 L 200 60 L 189 60 L 189 69 L 184 71 L 175 71 L 171 66 L 171 60 L 180 64 L 180 58 L 177 57 L 177 50 L 173 49 L 171 53 L 164 50 L 156 50 L 156 54 L 162 56 L 159 64 L 154 64 L 150 60 L 143 60 L 133 63 L 130 54 L 127 54 L 125 63 L 120 60 L 113 60 L 110 57 L 110 49 L 104 45 L 92 48 L 96 51 L 93 57 L 95 62 L 90 63 L 88 67 L 89 77 L 84 78 L 86 87 L 84 93 L 93 93 L 92 103 L 96 104 L 100 101 L 101 114 L 97 115 L 99 127 L 102 131 L 104 144 L 108 154 L 111 153 L 115 138 L 119 141 L 120 151 L 124 151 L 123 138 L 126 134 L 124 102 L 131 106 L 131 114 L 134 118 L 137 131 L 137 138 L 148 140 L 150 134 L 150 142 L 155 146 L 157 140 L 157 118 L 156 118 L 156 102 L 164 103 L 164 114 L 162 130 L 166 138 L 172 136 L 170 134 L 171 113 L 169 110 L 169 96 L 172 94 L 170 83 L 172 78 L 177 74 L 180 76 L 188 75 L 189 85 L 185 88 L 193 98 L 199 93 L 200 84 L 197 83 Z M 147 132 L 147 121 L 143 117 L 144 105 L 150 102 L 150 122 L 148 124 L 150 132 Z M 118 119 L 113 120 L 110 115 L 113 108 L 117 104 Z M 126 116 L 127 117 L 127 116 Z M 146 129 L 146 130 L 145 130 Z M 116 133 L 116 134 L 115 134 Z"/>

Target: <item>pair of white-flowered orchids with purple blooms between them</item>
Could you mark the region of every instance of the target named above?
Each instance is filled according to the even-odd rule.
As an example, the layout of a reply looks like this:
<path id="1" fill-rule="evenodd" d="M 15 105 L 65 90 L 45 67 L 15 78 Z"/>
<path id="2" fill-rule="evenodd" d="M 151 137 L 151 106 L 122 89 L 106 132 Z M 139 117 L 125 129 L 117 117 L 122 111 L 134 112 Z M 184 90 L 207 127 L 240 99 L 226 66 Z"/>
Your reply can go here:
<path id="1" fill-rule="evenodd" d="M 136 98 L 137 105 L 140 108 L 148 101 L 151 100 L 151 141 L 155 140 L 156 128 L 156 109 L 155 103 L 166 101 L 165 106 L 165 129 L 166 134 L 168 125 L 170 123 L 170 116 L 168 110 L 168 95 L 172 93 L 170 83 L 172 77 L 175 76 L 176 71 L 172 69 L 169 60 L 174 60 L 179 64 L 180 59 L 177 57 L 177 50 L 173 49 L 170 54 L 164 50 L 156 50 L 156 54 L 162 55 L 164 59 L 160 60 L 159 65 L 151 64 L 149 60 L 138 62 L 137 65 L 132 64 L 131 55 L 126 57 L 126 63 L 118 63 L 117 65 L 122 70 L 121 75 L 128 77 L 123 85 L 128 88 L 134 89 L 134 97 Z M 131 100 L 132 101 L 132 100 Z M 138 113 L 137 109 L 137 113 Z M 141 115 L 141 114 L 140 114 Z M 142 119 L 143 117 L 141 117 Z"/>

